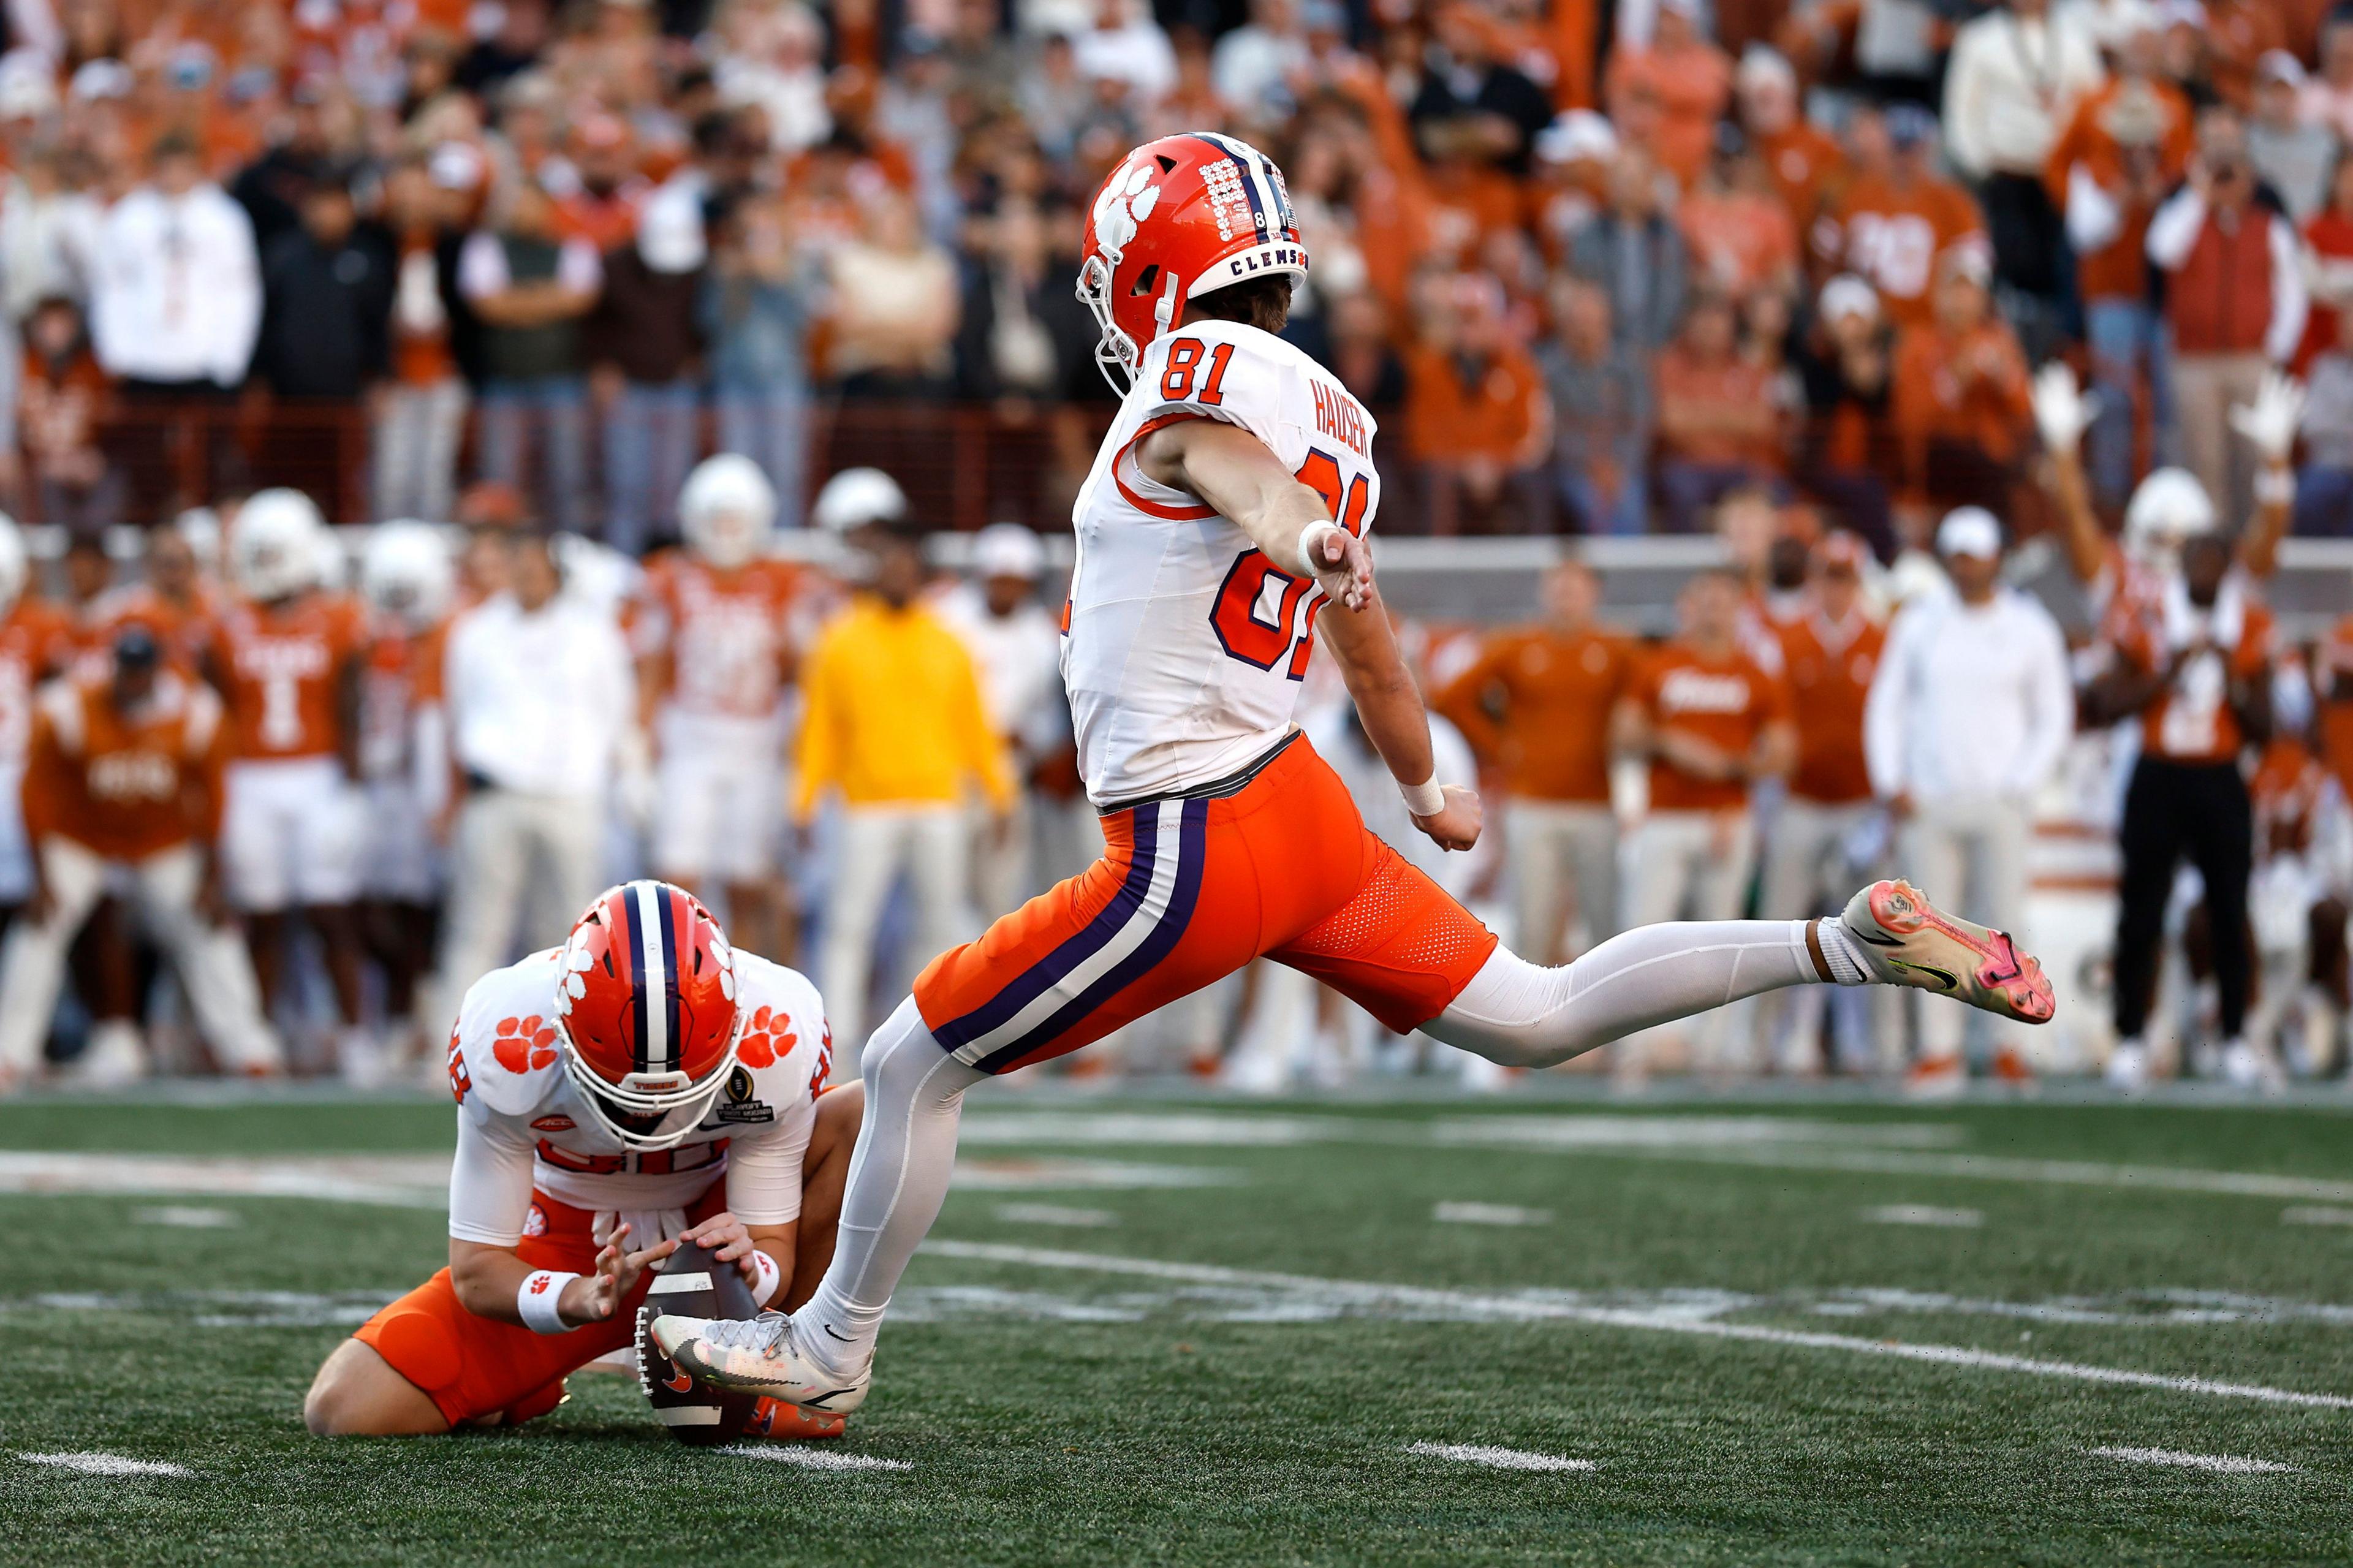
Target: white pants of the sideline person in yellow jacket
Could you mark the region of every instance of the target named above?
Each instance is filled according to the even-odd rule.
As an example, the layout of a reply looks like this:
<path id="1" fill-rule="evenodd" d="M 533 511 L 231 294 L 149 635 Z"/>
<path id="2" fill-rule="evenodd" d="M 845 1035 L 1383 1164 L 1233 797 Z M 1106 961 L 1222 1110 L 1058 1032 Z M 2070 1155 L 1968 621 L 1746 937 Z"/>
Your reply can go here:
<path id="1" fill-rule="evenodd" d="M 833 1076 L 859 1071 L 866 1045 L 866 991 L 873 986 L 875 928 L 899 871 L 915 895 L 915 963 L 962 942 L 972 925 L 972 836 L 965 808 L 852 805 L 842 810 L 842 855 L 826 906 L 816 961 L 833 1022 Z"/>

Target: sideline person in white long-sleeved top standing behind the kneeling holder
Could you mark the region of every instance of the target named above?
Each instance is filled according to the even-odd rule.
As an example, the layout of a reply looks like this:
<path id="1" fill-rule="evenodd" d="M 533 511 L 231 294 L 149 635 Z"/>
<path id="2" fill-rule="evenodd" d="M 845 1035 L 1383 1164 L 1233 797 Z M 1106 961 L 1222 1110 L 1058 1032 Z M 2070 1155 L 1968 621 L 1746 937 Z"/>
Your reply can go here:
<path id="1" fill-rule="evenodd" d="M 518 939 L 522 951 L 562 942 L 595 897 L 609 782 L 635 725 L 635 673 L 612 612 L 562 591 L 546 539 L 511 549 L 513 586 L 461 614 L 442 655 L 459 775 L 445 1017 Z"/>

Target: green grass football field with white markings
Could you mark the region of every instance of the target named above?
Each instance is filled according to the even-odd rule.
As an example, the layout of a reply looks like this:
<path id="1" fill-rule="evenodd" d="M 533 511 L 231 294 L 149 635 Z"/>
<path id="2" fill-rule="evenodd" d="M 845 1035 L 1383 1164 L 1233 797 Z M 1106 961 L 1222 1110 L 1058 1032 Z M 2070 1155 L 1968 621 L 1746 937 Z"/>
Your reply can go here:
<path id="1" fill-rule="evenodd" d="M 12 1104 L 0 1561 L 2348 1561 L 2348 1132 L 976 1095 L 828 1448 L 892 1467 L 807 1469 L 602 1375 L 520 1431 L 313 1441 L 311 1370 L 442 1260 L 447 1107 Z"/>

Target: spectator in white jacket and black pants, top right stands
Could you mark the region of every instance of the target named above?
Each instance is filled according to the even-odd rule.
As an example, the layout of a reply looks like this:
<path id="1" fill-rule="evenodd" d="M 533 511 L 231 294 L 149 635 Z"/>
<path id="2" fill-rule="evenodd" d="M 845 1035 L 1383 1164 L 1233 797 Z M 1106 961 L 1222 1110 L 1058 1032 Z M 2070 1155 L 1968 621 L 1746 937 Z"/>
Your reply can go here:
<path id="1" fill-rule="evenodd" d="M 2052 313 L 2071 278 L 2066 226 L 2042 172 L 2075 104 L 2104 75 L 2092 26 L 2052 0 L 2002 0 L 1953 35 L 1946 61 L 1946 151 L 1977 184 L 1993 275 Z"/>

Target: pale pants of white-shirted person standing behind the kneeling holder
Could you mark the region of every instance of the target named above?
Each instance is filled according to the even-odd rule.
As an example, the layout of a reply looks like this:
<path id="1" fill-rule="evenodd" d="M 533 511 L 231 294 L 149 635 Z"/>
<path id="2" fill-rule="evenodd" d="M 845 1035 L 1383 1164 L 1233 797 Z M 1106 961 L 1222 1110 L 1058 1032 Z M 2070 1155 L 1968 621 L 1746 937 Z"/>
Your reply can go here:
<path id="1" fill-rule="evenodd" d="M 433 1017 L 456 1019 L 466 986 L 518 949 L 555 946 L 598 895 L 605 803 L 478 789 L 466 796 L 449 843 L 442 911 L 440 998 Z"/>

